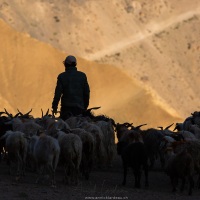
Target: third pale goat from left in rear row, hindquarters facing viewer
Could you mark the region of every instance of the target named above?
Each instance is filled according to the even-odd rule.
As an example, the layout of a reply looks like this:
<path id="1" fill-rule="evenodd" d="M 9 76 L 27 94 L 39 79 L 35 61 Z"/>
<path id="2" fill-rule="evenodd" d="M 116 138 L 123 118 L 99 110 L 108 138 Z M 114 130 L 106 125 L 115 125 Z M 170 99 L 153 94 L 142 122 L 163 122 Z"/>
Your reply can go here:
<path id="1" fill-rule="evenodd" d="M 61 149 L 60 160 L 64 164 L 64 181 L 67 184 L 77 185 L 82 159 L 82 141 L 78 135 L 66 134 L 63 131 L 57 132 L 57 139 Z"/>

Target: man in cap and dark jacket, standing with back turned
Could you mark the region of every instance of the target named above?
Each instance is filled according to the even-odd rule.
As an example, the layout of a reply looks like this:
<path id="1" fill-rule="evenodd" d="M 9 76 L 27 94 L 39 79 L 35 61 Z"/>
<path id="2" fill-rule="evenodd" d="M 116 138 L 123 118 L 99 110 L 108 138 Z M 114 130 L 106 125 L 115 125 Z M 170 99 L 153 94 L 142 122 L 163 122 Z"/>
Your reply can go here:
<path id="1" fill-rule="evenodd" d="M 77 70 L 77 61 L 74 56 L 67 56 L 63 64 L 65 72 L 57 77 L 52 109 L 53 115 L 56 114 L 61 98 L 60 118 L 66 120 L 69 116 L 80 115 L 87 109 L 90 88 L 85 73 Z"/>

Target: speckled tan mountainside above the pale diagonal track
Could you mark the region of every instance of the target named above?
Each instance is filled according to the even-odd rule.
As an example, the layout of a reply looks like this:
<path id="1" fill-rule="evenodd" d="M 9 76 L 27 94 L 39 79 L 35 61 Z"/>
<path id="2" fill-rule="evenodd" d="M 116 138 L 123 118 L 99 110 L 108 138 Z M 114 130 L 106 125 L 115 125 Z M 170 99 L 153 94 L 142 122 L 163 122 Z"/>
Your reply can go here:
<path id="1" fill-rule="evenodd" d="M 199 5 L 198 0 L 0 0 L 0 17 L 18 31 L 87 57 Z"/>

